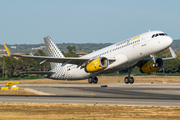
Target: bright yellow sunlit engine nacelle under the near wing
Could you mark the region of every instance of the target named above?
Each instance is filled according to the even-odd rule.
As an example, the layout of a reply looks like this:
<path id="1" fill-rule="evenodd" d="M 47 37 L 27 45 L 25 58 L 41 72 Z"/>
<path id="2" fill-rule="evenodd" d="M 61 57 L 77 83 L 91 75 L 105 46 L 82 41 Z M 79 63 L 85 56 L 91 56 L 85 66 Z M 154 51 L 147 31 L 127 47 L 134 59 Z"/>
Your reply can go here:
<path id="1" fill-rule="evenodd" d="M 100 57 L 88 63 L 86 65 L 86 72 L 98 72 L 107 68 L 109 65 L 109 60 L 105 57 Z"/>

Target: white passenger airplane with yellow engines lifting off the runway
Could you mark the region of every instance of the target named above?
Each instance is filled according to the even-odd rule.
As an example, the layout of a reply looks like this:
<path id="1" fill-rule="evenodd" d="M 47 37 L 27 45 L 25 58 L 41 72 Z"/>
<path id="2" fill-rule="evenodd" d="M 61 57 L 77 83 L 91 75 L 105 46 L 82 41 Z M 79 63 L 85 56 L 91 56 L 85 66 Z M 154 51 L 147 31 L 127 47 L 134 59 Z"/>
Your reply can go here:
<path id="1" fill-rule="evenodd" d="M 134 78 L 130 74 L 135 66 L 139 67 L 142 73 L 151 73 L 163 68 L 164 60 L 177 57 L 170 47 L 173 43 L 172 38 L 162 31 L 149 31 L 81 57 L 64 57 L 49 36 L 44 38 L 44 42 L 48 56 L 11 54 L 5 43 L 3 44 L 10 56 L 39 60 L 39 64 L 50 62 L 50 71 L 22 71 L 21 73 L 46 74 L 47 78 L 56 80 L 88 79 L 90 84 L 98 83 L 97 76 L 100 74 L 114 73 L 123 69 L 128 69 L 128 76 L 125 77 L 124 82 L 133 84 Z M 172 57 L 155 57 L 155 54 L 167 48 Z"/>

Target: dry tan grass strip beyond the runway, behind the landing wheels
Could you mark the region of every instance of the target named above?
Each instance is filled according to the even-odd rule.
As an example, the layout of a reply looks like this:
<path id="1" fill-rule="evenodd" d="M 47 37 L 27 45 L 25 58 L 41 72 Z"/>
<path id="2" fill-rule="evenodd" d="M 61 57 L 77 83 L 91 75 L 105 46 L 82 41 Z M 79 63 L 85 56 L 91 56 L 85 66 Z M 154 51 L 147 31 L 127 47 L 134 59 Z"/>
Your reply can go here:
<path id="1" fill-rule="evenodd" d="M 124 82 L 124 78 L 126 76 L 99 76 L 98 77 L 98 83 L 112 83 L 112 82 Z M 180 82 L 180 76 L 154 76 L 154 75 L 148 75 L 148 76 L 132 76 L 134 77 L 135 83 L 159 83 L 159 82 Z M 17 81 L 17 80 L 15 80 Z M 24 83 L 88 83 L 88 80 L 52 80 L 52 79 L 32 79 L 32 80 L 18 80 L 20 84 Z M 0 81 L 0 83 L 5 84 L 7 81 Z"/>

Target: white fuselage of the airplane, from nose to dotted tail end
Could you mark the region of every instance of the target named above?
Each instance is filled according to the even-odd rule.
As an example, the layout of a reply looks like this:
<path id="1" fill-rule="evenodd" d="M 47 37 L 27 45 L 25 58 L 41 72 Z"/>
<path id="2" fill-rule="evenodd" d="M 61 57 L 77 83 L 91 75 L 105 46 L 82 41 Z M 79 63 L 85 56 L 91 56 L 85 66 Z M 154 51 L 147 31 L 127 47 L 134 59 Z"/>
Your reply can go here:
<path id="1" fill-rule="evenodd" d="M 109 66 L 93 75 L 103 73 L 112 73 L 134 66 L 139 60 L 143 60 L 151 54 L 159 53 L 171 46 L 173 40 L 167 35 L 154 34 L 163 33 L 162 31 L 150 31 L 125 41 L 113 44 L 103 49 L 94 51 L 81 58 L 97 59 L 99 57 L 114 58 L 115 61 Z M 89 78 L 92 73 L 87 73 L 84 68 L 77 67 L 74 64 L 67 64 L 63 67 L 59 64 L 55 69 L 55 73 L 50 76 L 53 79 L 59 80 L 81 80 Z"/>

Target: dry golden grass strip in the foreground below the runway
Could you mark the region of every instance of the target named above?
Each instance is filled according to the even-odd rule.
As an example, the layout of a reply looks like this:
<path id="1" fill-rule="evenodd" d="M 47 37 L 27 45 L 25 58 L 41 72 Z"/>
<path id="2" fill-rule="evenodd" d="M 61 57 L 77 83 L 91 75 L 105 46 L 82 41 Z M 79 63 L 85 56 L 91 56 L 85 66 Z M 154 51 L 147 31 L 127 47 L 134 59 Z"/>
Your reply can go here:
<path id="1" fill-rule="evenodd" d="M 180 108 L 0 103 L 0 119 L 33 120 L 178 120 Z"/>

